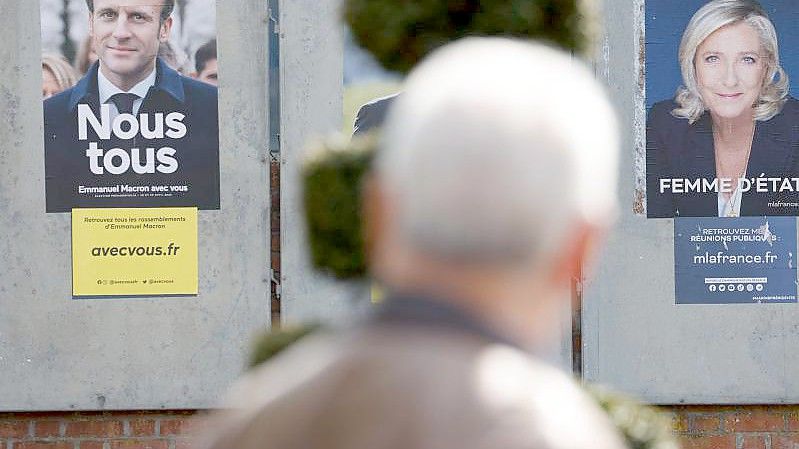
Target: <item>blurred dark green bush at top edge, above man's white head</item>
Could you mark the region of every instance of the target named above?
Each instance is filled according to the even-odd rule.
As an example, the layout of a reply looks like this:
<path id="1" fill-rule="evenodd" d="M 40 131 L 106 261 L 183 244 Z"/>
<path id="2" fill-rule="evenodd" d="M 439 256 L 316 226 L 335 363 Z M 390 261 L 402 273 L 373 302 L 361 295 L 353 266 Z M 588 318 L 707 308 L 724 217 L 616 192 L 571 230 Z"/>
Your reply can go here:
<path id="1" fill-rule="evenodd" d="M 346 0 L 358 45 L 406 74 L 432 50 L 466 36 L 549 41 L 587 54 L 597 36 L 596 0 Z"/>

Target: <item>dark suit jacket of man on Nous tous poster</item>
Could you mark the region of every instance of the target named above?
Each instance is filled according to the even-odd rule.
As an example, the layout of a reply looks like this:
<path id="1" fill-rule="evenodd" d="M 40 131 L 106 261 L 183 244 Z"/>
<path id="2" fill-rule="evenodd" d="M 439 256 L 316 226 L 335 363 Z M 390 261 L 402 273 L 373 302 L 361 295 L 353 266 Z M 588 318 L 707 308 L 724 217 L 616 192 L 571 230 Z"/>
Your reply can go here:
<path id="1" fill-rule="evenodd" d="M 69 212 L 78 207 L 169 207 L 197 206 L 219 209 L 219 128 L 216 87 L 186 78 L 169 68 L 160 59 L 156 64 L 155 85 L 144 97 L 137 118 L 148 115 L 148 126 L 154 129 L 159 115 L 178 112 L 185 115 L 187 132 L 181 138 L 144 138 L 139 132 L 132 139 L 122 140 L 113 134 L 100 139 L 88 126 L 88 139 L 78 139 L 78 105 L 88 104 L 100 117 L 95 63 L 78 84 L 44 102 L 45 191 L 47 212 Z M 141 122 L 142 120 L 140 120 Z M 127 127 L 125 128 L 127 129 Z M 164 131 L 169 130 L 164 126 Z M 120 148 L 130 154 L 139 148 L 139 159 L 147 162 L 148 148 L 157 152 L 162 147 L 175 149 L 178 169 L 174 173 L 92 173 L 86 150 L 96 142 L 108 151 Z M 119 165 L 121 159 L 112 159 Z M 158 161 L 154 161 L 158 165 Z M 102 159 L 100 160 L 102 166 Z M 110 187 L 117 193 L 80 193 L 83 187 Z M 147 187 L 150 192 L 131 193 L 124 186 Z M 154 186 L 167 186 L 167 192 Z M 173 188 L 177 186 L 178 188 Z M 187 191 L 182 191 L 183 186 Z"/>

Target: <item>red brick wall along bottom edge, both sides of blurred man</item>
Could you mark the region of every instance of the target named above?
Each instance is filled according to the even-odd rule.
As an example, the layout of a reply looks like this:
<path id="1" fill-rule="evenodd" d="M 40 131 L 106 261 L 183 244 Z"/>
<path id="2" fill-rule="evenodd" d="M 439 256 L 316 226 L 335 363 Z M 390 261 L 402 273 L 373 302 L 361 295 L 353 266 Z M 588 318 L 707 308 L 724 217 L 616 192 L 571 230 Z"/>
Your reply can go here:
<path id="1" fill-rule="evenodd" d="M 684 449 L 799 449 L 799 405 L 663 407 Z M 0 449 L 191 449 L 194 411 L 0 413 Z"/>

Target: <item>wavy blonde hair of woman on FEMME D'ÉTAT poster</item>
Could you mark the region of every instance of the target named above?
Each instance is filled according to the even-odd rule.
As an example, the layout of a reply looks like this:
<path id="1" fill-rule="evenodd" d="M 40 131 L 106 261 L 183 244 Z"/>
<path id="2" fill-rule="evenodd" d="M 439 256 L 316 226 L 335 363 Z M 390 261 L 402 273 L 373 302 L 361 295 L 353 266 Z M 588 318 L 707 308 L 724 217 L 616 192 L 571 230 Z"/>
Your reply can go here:
<path id="1" fill-rule="evenodd" d="M 788 75 L 780 66 L 774 24 L 754 0 L 714 0 L 701 7 L 685 27 L 679 52 L 684 85 L 677 89 L 674 101 L 679 107 L 672 111 L 672 115 L 693 123 L 705 112 L 696 82 L 696 49 L 715 31 L 737 23 L 751 26 L 766 52 L 766 77 L 760 97 L 754 104 L 755 120 L 766 121 L 782 110 L 788 96 Z"/>

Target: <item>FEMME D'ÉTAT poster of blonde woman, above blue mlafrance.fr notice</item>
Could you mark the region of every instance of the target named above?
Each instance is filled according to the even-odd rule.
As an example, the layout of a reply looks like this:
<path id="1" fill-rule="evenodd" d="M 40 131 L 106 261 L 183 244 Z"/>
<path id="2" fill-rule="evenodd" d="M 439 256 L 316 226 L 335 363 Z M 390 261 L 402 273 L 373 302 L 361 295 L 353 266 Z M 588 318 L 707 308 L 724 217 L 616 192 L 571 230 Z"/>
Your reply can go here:
<path id="1" fill-rule="evenodd" d="M 645 8 L 647 217 L 798 216 L 799 3 Z"/>

